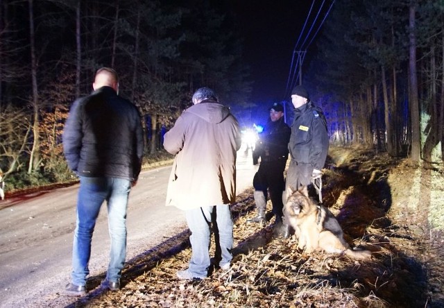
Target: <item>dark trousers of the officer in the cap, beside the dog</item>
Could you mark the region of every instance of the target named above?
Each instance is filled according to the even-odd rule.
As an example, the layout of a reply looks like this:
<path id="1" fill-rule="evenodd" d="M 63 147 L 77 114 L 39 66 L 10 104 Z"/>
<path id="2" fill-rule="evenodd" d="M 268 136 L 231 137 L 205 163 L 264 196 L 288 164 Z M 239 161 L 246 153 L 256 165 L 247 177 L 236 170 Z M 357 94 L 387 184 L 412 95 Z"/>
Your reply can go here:
<path id="1" fill-rule="evenodd" d="M 270 194 L 273 214 L 276 215 L 276 219 L 278 220 L 282 219 L 282 209 L 284 207 L 282 203 L 282 193 L 285 189 L 285 164 L 287 164 L 287 162 L 284 160 L 261 162 L 253 178 L 253 187 L 255 187 L 256 191 L 262 191 L 264 193 L 265 200 L 268 194 Z"/>

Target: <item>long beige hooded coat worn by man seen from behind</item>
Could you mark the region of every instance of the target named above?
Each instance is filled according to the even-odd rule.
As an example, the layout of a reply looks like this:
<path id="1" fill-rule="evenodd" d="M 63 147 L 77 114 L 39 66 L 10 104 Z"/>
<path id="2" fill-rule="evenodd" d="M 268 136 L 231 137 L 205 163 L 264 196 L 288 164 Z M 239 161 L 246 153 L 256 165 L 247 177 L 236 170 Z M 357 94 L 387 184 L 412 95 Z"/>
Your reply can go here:
<path id="1" fill-rule="evenodd" d="M 230 110 L 203 101 L 185 110 L 164 135 L 164 148 L 176 154 L 166 205 L 192 209 L 234 203 L 239 124 Z"/>

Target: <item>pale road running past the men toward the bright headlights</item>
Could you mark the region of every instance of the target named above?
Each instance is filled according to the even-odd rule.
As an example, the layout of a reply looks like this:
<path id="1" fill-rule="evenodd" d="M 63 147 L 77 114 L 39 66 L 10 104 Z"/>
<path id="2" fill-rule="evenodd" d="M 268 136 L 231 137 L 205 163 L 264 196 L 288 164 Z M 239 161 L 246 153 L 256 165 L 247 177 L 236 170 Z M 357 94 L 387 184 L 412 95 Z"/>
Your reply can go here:
<path id="1" fill-rule="evenodd" d="M 251 152 L 237 156 L 237 194 L 252 186 Z M 142 171 L 128 203 L 127 260 L 187 229 L 176 207 L 165 207 L 171 166 Z M 32 307 L 69 282 L 78 185 L 1 201 L 0 307 Z M 109 254 L 106 206 L 92 239 L 90 275 L 106 271 Z"/>

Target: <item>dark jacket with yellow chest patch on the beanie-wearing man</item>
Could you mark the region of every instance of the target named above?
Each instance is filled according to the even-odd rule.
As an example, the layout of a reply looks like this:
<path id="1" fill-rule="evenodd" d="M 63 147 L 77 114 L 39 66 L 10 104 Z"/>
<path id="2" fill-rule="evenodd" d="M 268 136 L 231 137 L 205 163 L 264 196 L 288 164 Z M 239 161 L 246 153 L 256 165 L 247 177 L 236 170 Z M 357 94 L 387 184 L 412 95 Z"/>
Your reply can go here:
<path id="1" fill-rule="evenodd" d="M 327 121 L 321 108 L 311 101 L 296 108 L 289 142 L 291 160 L 322 170 L 328 146 Z"/>

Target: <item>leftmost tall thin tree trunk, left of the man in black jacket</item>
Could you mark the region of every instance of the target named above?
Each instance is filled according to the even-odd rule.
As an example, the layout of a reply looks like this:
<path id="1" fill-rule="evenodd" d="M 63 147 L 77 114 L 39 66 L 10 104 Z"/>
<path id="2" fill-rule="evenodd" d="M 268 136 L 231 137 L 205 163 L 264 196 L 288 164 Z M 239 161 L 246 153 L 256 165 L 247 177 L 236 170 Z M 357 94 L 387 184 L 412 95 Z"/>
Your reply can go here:
<path id="1" fill-rule="evenodd" d="M 29 157 L 28 173 L 37 170 L 40 164 L 40 122 L 39 122 L 39 106 L 37 91 L 37 57 L 35 55 L 35 29 L 34 29 L 34 8 L 33 0 L 29 3 L 29 39 L 31 46 L 31 80 L 33 86 L 32 103 L 33 103 L 33 148 Z"/>

